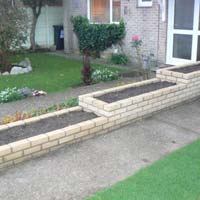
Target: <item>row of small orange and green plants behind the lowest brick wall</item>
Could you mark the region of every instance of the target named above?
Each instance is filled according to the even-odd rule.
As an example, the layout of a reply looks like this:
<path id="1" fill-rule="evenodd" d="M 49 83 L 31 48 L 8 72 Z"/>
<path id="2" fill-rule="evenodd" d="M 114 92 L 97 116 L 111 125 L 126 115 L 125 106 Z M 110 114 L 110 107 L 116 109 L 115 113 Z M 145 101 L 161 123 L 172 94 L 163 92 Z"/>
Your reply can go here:
<path id="1" fill-rule="evenodd" d="M 65 108 L 71 108 L 71 107 L 75 107 L 78 106 L 78 99 L 77 98 L 71 98 L 66 102 L 60 103 L 58 105 L 53 105 L 50 106 L 48 108 L 42 108 L 39 110 L 32 110 L 26 113 L 23 112 L 16 112 L 14 115 L 12 116 L 8 116 L 6 115 L 3 119 L 3 124 L 8 124 L 11 122 L 16 122 L 19 120 L 24 120 L 24 119 L 28 119 L 31 117 L 36 117 L 36 116 L 40 116 L 46 113 L 50 113 L 50 112 L 54 112 L 54 111 L 59 111 Z"/>

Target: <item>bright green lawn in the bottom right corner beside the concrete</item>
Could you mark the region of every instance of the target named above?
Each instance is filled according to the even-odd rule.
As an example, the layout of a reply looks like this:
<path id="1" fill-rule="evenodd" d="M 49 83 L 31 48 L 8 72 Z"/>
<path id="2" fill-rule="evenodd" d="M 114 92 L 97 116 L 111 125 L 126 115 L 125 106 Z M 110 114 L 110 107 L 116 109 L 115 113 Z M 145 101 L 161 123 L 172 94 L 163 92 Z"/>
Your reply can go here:
<path id="1" fill-rule="evenodd" d="M 200 200 L 200 140 L 88 200 Z"/>

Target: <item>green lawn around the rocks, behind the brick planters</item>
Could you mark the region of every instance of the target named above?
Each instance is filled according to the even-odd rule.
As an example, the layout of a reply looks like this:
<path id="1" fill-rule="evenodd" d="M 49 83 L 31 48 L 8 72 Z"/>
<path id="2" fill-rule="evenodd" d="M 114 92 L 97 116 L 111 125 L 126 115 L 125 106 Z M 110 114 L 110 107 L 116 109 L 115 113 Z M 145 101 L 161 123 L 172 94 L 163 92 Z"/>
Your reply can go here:
<path id="1" fill-rule="evenodd" d="M 1 76 L 0 91 L 7 87 L 29 87 L 50 93 L 81 84 L 81 61 L 44 53 L 32 53 L 17 55 L 13 58 L 13 62 L 19 62 L 24 57 L 30 58 L 33 72 L 17 76 Z M 93 67 L 103 66 L 93 65 Z"/>

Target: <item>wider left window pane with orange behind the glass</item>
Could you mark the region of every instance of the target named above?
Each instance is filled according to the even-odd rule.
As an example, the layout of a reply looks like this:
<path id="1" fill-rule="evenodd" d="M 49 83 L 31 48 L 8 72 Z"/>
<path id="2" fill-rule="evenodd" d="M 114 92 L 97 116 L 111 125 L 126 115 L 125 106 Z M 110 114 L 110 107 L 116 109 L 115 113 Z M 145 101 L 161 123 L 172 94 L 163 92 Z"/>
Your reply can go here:
<path id="1" fill-rule="evenodd" d="M 91 22 L 110 22 L 110 0 L 91 0 Z"/>

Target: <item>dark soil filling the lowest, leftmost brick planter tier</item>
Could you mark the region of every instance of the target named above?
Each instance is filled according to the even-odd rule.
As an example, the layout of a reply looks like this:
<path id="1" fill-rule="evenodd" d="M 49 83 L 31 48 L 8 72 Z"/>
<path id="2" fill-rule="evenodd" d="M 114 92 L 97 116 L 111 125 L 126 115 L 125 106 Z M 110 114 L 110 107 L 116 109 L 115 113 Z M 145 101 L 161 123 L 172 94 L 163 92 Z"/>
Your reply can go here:
<path id="1" fill-rule="evenodd" d="M 44 119 L 27 126 L 14 127 L 0 132 L 0 145 L 16 142 L 18 140 L 65 128 L 67 126 L 94 119 L 96 117 L 97 116 L 93 113 L 77 111 L 59 117 Z"/>

